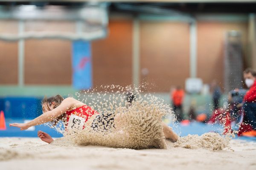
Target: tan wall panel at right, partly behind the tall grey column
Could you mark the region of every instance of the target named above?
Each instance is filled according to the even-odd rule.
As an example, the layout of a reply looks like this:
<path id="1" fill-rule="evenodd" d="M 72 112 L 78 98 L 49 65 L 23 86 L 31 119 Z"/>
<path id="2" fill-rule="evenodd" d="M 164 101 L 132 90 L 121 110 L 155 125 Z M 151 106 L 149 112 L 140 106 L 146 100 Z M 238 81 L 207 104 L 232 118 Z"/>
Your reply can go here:
<path id="1" fill-rule="evenodd" d="M 198 22 L 198 77 L 204 83 L 216 79 L 223 87 L 224 79 L 224 40 L 230 30 L 242 34 L 243 55 L 247 48 L 247 23 Z"/>

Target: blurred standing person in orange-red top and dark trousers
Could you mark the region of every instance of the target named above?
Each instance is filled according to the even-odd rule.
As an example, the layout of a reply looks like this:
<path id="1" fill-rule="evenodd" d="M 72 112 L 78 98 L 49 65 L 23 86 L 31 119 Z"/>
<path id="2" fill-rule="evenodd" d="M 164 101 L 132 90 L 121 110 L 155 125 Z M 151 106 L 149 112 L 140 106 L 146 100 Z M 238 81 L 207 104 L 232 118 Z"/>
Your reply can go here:
<path id="1" fill-rule="evenodd" d="M 183 98 L 184 98 L 184 91 L 180 88 L 180 86 L 177 86 L 177 88 L 172 92 L 171 94 L 172 98 L 172 104 L 173 104 L 173 111 L 175 113 L 175 116 L 177 118 L 177 121 L 183 120 Z"/>

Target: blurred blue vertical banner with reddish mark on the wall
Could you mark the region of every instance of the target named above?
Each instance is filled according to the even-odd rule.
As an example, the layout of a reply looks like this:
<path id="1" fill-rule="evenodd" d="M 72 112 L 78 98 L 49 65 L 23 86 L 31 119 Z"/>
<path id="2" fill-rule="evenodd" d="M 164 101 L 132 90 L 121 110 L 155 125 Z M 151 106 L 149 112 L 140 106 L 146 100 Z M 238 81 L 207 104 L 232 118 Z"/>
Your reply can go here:
<path id="1" fill-rule="evenodd" d="M 90 42 L 73 41 L 73 87 L 82 90 L 92 87 L 92 63 Z"/>

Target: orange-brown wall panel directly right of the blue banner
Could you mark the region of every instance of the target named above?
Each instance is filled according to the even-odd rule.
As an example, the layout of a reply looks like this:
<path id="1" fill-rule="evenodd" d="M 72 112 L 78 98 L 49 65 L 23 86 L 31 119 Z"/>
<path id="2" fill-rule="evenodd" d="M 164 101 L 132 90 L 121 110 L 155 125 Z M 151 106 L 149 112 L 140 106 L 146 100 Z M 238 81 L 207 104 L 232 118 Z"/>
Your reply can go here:
<path id="1" fill-rule="evenodd" d="M 132 21 L 110 20 L 106 39 L 92 42 L 93 85 L 132 83 Z"/>

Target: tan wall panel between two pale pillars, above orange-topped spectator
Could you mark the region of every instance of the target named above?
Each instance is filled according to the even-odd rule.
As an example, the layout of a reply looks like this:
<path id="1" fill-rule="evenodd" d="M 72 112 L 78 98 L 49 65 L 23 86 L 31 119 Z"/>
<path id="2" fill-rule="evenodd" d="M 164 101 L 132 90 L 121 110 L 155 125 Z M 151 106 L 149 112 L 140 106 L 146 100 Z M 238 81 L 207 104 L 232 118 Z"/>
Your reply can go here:
<path id="1" fill-rule="evenodd" d="M 167 21 L 140 22 L 140 75 L 149 91 L 168 92 L 173 85 L 184 87 L 189 77 L 189 24 Z"/>

